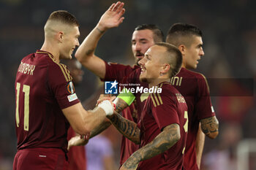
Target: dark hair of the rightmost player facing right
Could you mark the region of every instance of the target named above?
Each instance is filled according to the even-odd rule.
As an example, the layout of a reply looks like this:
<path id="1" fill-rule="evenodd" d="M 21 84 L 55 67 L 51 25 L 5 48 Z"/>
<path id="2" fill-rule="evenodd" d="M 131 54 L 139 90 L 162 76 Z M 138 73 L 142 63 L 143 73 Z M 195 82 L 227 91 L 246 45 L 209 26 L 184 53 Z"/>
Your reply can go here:
<path id="1" fill-rule="evenodd" d="M 179 45 L 189 46 L 191 36 L 203 36 L 202 31 L 194 25 L 187 23 L 175 23 L 167 32 L 166 42 L 178 47 Z"/>

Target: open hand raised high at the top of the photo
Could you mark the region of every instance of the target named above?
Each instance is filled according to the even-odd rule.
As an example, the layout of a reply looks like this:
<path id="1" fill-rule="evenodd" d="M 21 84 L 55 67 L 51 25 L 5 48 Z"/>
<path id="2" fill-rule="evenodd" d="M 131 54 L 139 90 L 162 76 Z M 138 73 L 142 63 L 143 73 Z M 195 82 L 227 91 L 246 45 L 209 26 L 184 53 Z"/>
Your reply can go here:
<path id="1" fill-rule="evenodd" d="M 113 3 L 100 18 L 97 25 L 99 31 L 107 31 L 109 28 L 119 26 L 124 20 L 124 17 L 122 17 L 124 12 L 124 2 Z"/>

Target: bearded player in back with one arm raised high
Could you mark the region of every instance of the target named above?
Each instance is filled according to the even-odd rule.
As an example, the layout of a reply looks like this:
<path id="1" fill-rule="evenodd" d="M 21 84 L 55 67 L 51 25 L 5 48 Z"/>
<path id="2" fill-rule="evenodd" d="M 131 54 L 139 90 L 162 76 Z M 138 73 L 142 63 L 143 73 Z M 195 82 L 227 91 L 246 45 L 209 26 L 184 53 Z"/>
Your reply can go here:
<path id="1" fill-rule="evenodd" d="M 138 66 L 138 61 L 143 58 L 144 53 L 149 47 L 154 45 L 156 42 L 163 41 L 162 31 L 155 25 L 143 24 L 137 26 L 132 34 L 132 53 L 135 57 L 135 66 L 125 66 L 116 63 L 107 63 L 94 54 L 97 47 L 99 39 L 105 32 L 110 29 L 119 26 L 124 20 L 122 15 L 124 15 L 124 3 L 117 2 L 112 4 L 110 8 L 102 15 L 97 26 L 91 31 L 91 33 L 84 39 L 83 43 L 78 47 L 75 57 L 78 61 L 82 63 L 86 69 L 94 72 L 102 80 L 117 80 L 117 82 L 122 82 L 123 77 L 128 76 L 135 69 L 140 69 Z M 145 101 L 143 101 L 145 103 Z M 122 115 L 129 120 L 138 123 L 138 118 L 140 117 L 140 112 L 137 112 L 138 104 L 140 101 L 132 103 L 129 108 L 124 109 Z M 120 111 L 117 106 L 116 111 Z M 105 130 L 110 126 L 110 122 L 106 122 L 99 126 L 99 128 L 94 129 L 91 132 L 91 137 L 99 134 L 101 131 Z M 130 142 L 124 136 L 121 141 L 121 155 L 120 163 L 129 158 L 135 150 L 138 149 L 138 145 Z"/>

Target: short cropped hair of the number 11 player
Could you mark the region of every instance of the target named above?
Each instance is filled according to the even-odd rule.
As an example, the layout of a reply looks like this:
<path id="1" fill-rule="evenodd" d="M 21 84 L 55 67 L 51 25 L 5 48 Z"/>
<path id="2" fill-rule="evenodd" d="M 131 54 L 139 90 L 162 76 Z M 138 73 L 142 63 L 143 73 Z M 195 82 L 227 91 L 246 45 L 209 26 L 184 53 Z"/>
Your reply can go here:
<path id="1" fill-rule="evenodd" d="M 65 10 L 58 10 L 52 12 L 48 20 L 56 20 L 60 21 L 61 23 L 79 26 L 78 20 L 75 18 L 75 16 Z"/>

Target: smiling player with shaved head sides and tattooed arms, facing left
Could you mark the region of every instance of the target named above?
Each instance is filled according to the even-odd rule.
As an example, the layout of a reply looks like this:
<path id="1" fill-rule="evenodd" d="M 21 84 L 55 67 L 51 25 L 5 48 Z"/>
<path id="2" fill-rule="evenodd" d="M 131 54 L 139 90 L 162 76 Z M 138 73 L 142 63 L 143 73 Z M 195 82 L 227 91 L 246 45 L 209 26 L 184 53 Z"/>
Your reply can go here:
<path id="1" fill-rule="evenodd" d="M 187 139 L 187 104 L 181 93 L 170 85 L 170 77 L 181 69 L 181 52 L 173 45 L 157 43 L 150 47 L 139 61 L 140 70 L 134 77 L 147 82 L 148 88 L 162 88 L 160 93 L 150 93 L 139 123 L 116 113 L 108 117 L 128 139 L 140 144 L 121 166 L 123 169 L 183 169 Z"/>

